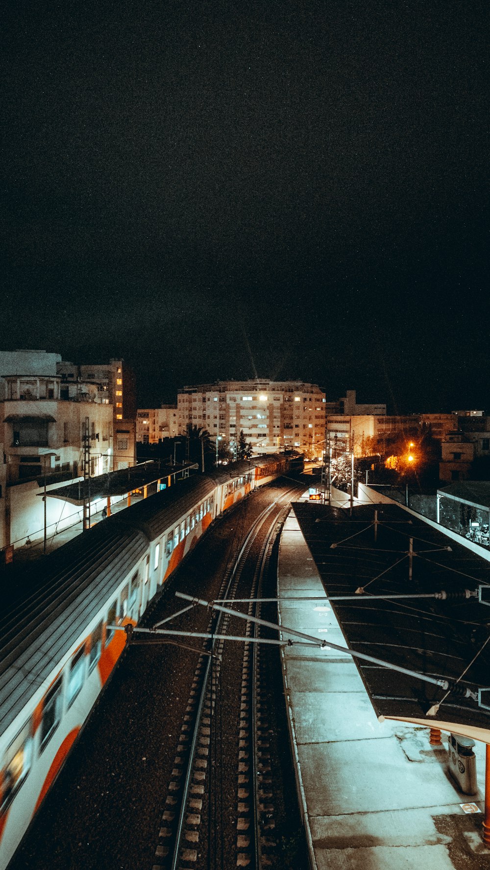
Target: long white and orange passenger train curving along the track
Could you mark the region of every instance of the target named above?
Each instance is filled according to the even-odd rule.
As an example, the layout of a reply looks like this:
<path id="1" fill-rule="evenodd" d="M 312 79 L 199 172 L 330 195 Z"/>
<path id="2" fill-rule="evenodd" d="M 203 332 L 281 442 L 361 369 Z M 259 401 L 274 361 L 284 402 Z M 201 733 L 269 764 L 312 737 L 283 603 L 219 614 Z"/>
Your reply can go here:
<path id="1" fill-rule="evenodd" d="M 99 523 L 33 566 L 0 620 L 0 868 L 165 580 L 213 519 L 288 470 L 272 455 L 197 475 Z"/>

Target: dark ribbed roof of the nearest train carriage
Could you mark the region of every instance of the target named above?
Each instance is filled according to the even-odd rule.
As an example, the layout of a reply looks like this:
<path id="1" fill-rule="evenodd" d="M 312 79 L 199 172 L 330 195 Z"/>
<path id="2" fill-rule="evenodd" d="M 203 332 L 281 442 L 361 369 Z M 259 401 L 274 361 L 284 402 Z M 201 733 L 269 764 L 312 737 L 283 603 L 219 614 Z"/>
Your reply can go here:
<path id="1" fill-rule="evenodd" d="M 0 733 L 147 549 L 142 532 L 99 523 L 25 573 L 23 596 L 7 604 L 0 619 Z"/>

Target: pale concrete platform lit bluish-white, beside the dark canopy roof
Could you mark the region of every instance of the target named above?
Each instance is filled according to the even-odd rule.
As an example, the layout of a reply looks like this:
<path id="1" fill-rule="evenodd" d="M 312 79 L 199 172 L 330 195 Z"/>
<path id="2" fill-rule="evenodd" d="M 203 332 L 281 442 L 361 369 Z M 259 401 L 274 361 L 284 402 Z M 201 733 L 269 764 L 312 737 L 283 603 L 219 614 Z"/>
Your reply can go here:
<path id="1" fill-rule="evenodd" d="M 281 626 L 346 646 L 293 512 L 278 589 Z M 490 870 L 483 814 L 461 807 L 483 811 L 483 744 L 475 746 L 479 791 L 468 796 L 447 773 L 446 733 L 434 748 L 425 727 L 379 722 L 351 656 L 295 644 L 283 648 L 283 667 L 313 870 Z"/>

